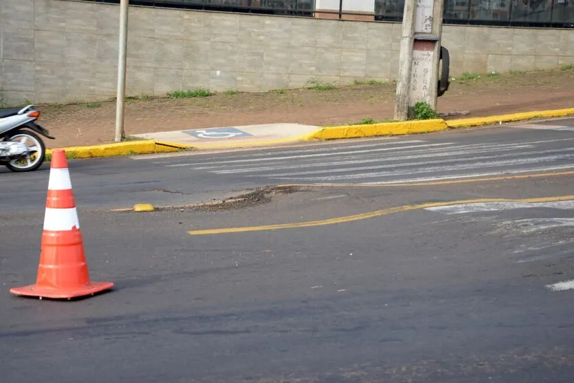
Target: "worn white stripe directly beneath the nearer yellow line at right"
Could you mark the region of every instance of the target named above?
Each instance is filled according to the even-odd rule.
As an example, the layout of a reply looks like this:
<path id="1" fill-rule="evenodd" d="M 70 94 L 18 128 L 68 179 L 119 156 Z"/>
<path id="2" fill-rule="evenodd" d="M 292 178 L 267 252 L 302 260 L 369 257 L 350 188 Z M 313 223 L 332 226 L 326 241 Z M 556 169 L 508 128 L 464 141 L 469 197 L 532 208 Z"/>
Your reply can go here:
<path id="1" fill-rule="evenodd" d="M 425 208 L 434 212 L 441 212 L 443 214 L 467 214 L 472 212 L 490 212 L 500 210 L 524 209 L 524 208 L 552 208 L 568 210 L 574 209 L 574 201 L 552 201 L 552 202 L 516 202 L 516 201 L 496 201 L 496 202 L 476 202 L 474 204 L 459 204 L 450 206 L 436 206 L 433 208 Z M 574 219 L 566 218 L 569 222 L 559 221 L 555 222 L 555 226 L 574 226 Z M 528 221 L 528 220 L 525 220 Z M 534 221 L 534 220 L 532 220 Z M 551 224 L 551 223 L 548 223 Z"/>

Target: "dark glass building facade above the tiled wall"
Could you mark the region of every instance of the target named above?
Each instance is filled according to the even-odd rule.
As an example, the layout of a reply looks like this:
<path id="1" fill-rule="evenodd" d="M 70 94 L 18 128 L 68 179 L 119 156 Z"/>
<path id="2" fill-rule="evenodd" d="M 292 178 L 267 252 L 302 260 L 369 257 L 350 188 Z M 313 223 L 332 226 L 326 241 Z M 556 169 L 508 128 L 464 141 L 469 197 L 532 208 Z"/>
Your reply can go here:
<path id="1" fill-rule="evenodd" d="M 119 0 L 86 0 L 119 3 Z M 401 21 L 404 0 L 131 0 L 152 7 Z M 444 23 L 574 28 L 574 0 L 445 0 Z"/>

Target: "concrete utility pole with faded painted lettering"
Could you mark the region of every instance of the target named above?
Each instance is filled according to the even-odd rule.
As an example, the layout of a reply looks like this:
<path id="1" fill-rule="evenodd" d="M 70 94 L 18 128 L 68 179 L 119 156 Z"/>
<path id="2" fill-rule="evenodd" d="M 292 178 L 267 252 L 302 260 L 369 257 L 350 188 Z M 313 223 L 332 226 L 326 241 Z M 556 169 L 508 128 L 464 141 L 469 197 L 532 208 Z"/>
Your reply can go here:
<path id="1" fill-rule="evenodd" d="M 405 1 L 395 120 L 407 120 L 419 101 L 437 109 L 443 2 Z"/>

